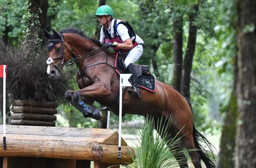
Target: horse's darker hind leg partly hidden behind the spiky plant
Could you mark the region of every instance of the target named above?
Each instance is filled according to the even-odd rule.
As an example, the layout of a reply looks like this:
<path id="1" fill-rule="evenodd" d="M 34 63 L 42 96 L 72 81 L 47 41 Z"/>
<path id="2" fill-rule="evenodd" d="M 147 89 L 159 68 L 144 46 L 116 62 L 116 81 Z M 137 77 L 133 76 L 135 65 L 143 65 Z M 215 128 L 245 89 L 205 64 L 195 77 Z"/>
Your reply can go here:
<path id="1" fill-rule="evenodd" d="M 159 124 L 161 121 L 161 117 L 155 117 L 154 118 L 154 122 L 155 122 L 155 129 L 157 129 L 157 124 Z M 166 121 L 167 122 L 167 121 Z M 165 123 L 165 117 L 163 117 L 162 119 L 162 124 L 158 125 L 160 126 L 160 130 L 165 130 L 165 129 L 168 129 L 168 136 L 169 138 L 173 139 L 174 136 L 175 136 L 175 132 L 171 130 L 171 128 L 166 128 L 166 124 Z M 174 155 L 175 159 L 177 160 L 180 168 L 188 168 L 188 164 L 187 164 L 187 157 L 184 155 L 184 153 L 182 152 L 182 146 L 180 143 L 176 143 L 173 147 L 170 148 L 169 146 L 169 149 L 171 151 L 171 153 Z"/>

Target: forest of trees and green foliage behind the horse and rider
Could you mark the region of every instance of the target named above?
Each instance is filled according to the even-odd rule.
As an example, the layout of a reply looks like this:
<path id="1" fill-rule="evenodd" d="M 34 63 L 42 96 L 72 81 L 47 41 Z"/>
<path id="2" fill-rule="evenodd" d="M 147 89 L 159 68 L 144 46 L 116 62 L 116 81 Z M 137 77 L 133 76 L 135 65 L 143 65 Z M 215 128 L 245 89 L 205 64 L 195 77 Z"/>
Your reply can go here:
<path id="1" fill-rule="evenodd" d="M 0 0 L 0 39 L 18 47 L 27 33 L 28 5 L 38 8 L 41 29 L 76 27 L 93 38 L 99 26 L 93 14 L 109 5 L 114 17 L 129 21 L 145 42 L 138 64 L 150 65 L 159 81 L 173 86 L 190 99 L 196 127 L 205 133 L 223 131 L 222 159 L 234 164 L 237 126 L 238 34 L 255 32 L 255 23 L 238 29 L 241 1 L 233 0 Z M 245 2 L 245 1 L 244 1 Z M 255 2 L 252 9 L 255 9 Z M 241 5 L 242 6 L 242 5 Z M 242 8 L 242 7 L 241 7 Z M 256 9 L 255 9 L 256 10 Z M 253 10 L 252 10 L 253 11 Z M 30 10 L 31 12 L 31 10 Z M 254 16 L 254 15 L 253 15 Z M 40 34 L 41 46 L 47 42 Z M 47 56 L 44 56 L 47 59 Z M 1 63 L 0 63 L 1 64 Z M 47 67 L 47 65 L 46 65 Z M 75 82 L 76 67 L 72 67 Z M 170 101 L 172 101 L 170 99 Z M 95 103 L 99 107 L 99 104 Z M 61 116 L 70 127 L 102 127 L 83 118 L 73 107 L 63 107 Z M 112 115 L 111 122 L 117 117 Z M 124 121 L 136 116 L 126 115 Z M 58 123 L 63 126 L 63 122 Z M 241 123 L 240 123 L 241 124 Z M 219 130 L 219 131 L 218 131 Z M 238 135 L 237 135 L 238 136 Z M 229 147 L 227 147 L 227 144 Z M 221 148 L 222 149 L 222 148 Z M 226 161 L 227 161 L 226 160 Z M 224 163 L 219 166 L 225 167 Z M 229 165 L 230 166 L 230 165 Z M 229 167 L 228 166 L 228 167 Z M 231 166 L 233 167 L 233 166 Z"/>

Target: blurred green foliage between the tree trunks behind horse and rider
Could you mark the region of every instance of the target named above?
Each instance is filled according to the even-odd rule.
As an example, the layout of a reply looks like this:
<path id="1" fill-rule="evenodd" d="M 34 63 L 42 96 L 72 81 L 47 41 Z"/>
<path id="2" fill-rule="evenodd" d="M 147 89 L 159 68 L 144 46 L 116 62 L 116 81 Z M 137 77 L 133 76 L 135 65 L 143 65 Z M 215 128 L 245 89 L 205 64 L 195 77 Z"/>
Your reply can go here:
<path id="1" fill-rule="evenodd" d="M 144 52 L 138 63 L 151 65 L 154 56 L 160 75 L 154 72 L 153 67 L 151 72 L 158 75 L 158 80 L 171 84 L 173 18 L 183 16 L 183 53 L 185 53 L 189 14 L 195 12 L 191 7 L 197 2 L 200 5 L 198 18 L 193 23 L 197 27 L 197 40 L 191 73 L 191 102 L 196 126 L 199 130 L 212 131 L 213 128 L 219 127 L 215 120 L 221 120 L 218 116 L 219 104 L 221 104 L 221 110 L 225 109 L 231 91 L 236 55 L 234 43 L 236 32 L 233 23 L 236 19 L 235 2 L 231 0 L 107 0 L 106 5 L 112 7 L 115 18 L 129 21 L 136 34 L 144 40 Z M 98 23 L 93 14 L 98 4 L 98 0 L 49 0 L 49 26 L 57 30 L 77 27 L 89 37 L 94 37 Z M 8 27 L 9 42 L 13 46 L 18 46 L 19 41 L 23 41 L 22 30 L 29 31 L 25 27 L 26 21 L 37 18 L 29 14 L 28 5 L 24 0 L 1 0 L 0 2 L 0 20 L 3 21 L 0 22 L 0 38 L 3 38 L 4 30 Z M 26 26 L 33 25 L 26 24 Z M 255 30 L 253 25 L 247 25 L 244 28 L 244 32 L 253 30 Z M 67 70 L 74 74 L 73 89 L 78 89 L 75 81 L 76 68 Z M 94 105 L 101 108 L 98 103 Z M 67 114 L 63 112 L 63 116 L 71 120 L 70 125 L 94 126 L 90 119 L 85 119 L 73 107 L 68 107 Z M 126 114 L 123 120 L 126 119 L 132 120 L 134 116 Z M 111 115 L 111 122 L 116 121 L 118 116 Z"/>

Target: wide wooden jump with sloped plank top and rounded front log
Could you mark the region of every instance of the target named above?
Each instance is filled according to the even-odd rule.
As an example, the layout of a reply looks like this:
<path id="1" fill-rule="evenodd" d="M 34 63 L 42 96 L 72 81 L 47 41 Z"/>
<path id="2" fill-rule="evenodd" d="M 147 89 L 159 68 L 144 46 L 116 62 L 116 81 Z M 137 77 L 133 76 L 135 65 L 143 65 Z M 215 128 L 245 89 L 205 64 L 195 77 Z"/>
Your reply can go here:
<path id="1" fill-rule="evenodd" d="M 0 137 L 2 131 L 0 125 Z M 2 138 L 0 144 L 3 145 Z M 121 160 L 118 160 L 118 133 L 110 129 L 6 125 L 6 150 L 0 147 L 0 156 L 4 157 L 3 168 L 14 168 L 17 166 L 14 162 L 34 166 L 40 163 L 36 165 L 38 168 L 46 166 L 45 162 L 53 163 L 50 168 L 82 168 L 90 166 L 90 161 L 94 161 L 94 168 L 119 167 L 132 163 L 129 151 L 135 157 L 123 139 L 121 145 Z M 19 157 L 29 157 L 30 163 Z M 33 162 L 31 157 L 41 160 Z M 51 161 L 45 161 L 47 158 Z"/>

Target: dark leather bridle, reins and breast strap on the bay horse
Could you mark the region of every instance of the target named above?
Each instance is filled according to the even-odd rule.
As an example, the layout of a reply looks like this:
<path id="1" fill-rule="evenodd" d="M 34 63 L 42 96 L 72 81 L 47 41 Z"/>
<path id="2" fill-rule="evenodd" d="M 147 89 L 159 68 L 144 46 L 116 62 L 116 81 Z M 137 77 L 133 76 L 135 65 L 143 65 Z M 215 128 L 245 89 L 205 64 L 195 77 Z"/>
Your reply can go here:
<path id="1" fill-rule="evenodd" d="M 71 56 L 72 56 L 72 52 L 71 52 L 71 49 L 65 44 L 63 35 L 62 35 L 62 34 L 60 34 L 60 35 L 61 35 L 61 40 L 49 40 L 49 42 L 58 42 L 58 43 L 62 43 L 62 55 L 59 56 L 59 57 L 55 57 L 55 58 L 49 57 L 48 60 L 46 61 L 48 65 L 51 65 L 51 64 L 53 64 L 53 60 L 57 60 L 57 59 L 62 58 L 62 62 L 61 62 L 61 64 L 60 64 L 59 67 L 57 67 L 55 64 L 53 64 L 53 66 L 54 66 L 59 72 L 60 72 L 60 68 L 65 68 L 65 67 L 68 67 L 68 66 L 72 66 L 73 64 L 75 64 L 75 63 L 77 63 L 77 62 L 79 62 L 79 61 L 81 61 L 81 60 L 83 60 L 83 59 L 86 59 L 86 58 L 88 58 L 88 57 L 90 57 L 90 56 L 92 56 L 92 55 L 94 55 L 94 54 L 96 54 L 96 53 L 98 53 L 98 52 L 103 51 L 103 50 L 106 49 L 105 46 L 102 46 L 102 47 L 100 47 L 100 48 L 98 48 L 98 49 L 96 49 L 96 50 L 93 50 L 93 51 L 91 51 L 91 52 L 89 52 L 89 53 L 87 53 L 87 54 L 78 55 L 78 57 L 75 58 L 75 59 L 73 59 L 73 58 L 71 57 L 71 60 L 69 60 L 69 61 L 67 61 L 66 63 L 64 63 L 64 56 L 65 56 L 65 49 L 64 49 L 64 46 L 67 47 L 67 49 L 68 49 L 68 51 L 69 51 L 69 53 L 70 53 Z M 85 57 L 84 57 L 84 56 L 85 56 Z M 92 64 L 92 65 L 86 67 L 86 69 L 88 69 L 89 67 L 95 66 L 95 65 L 99 65 L 99 64 L 106 64 L 106 65 L 110 66 L 111 68 L 116 69 L 116 67 L 114 67 L 113 65 L 107 63 L 107 56 L 105 57 L 105 59 L 106 59 L 106 62 L 100 62 L 100 63 Z"/>

